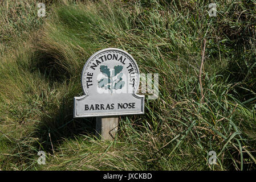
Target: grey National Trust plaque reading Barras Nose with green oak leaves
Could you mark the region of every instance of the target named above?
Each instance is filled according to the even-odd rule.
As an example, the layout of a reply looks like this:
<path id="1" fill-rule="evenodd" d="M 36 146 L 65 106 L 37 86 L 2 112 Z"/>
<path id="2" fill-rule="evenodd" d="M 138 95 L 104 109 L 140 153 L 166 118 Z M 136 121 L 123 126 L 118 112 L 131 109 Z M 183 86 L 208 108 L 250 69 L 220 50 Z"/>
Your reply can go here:
<path id="1" fill-rule="evenodd" d="M 84 96 L 74 97 L 74 118 L 144 114 L 139 84 L 139 68 L 129 53 L 117 48 L 96 52 L 84 65 Z"/>

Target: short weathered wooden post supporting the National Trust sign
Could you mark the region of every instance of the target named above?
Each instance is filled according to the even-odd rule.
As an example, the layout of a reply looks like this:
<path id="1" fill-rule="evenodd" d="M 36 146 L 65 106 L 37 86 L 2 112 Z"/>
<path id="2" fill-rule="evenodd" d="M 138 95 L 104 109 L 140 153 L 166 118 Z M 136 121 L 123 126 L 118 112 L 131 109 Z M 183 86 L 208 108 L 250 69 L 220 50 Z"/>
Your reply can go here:
<path id="1" fill-rule="evenodd" d="M 116 137 L 119 117 L 96 117 L 96 135 L 101 140 L 114 140 Z"/>

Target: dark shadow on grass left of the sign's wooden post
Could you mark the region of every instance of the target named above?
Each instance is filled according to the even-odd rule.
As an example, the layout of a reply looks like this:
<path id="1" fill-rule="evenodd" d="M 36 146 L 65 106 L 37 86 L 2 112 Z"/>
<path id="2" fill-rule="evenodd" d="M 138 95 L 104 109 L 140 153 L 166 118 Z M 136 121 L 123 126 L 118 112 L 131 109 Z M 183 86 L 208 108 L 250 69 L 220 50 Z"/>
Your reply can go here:
<path id="1" fill-rule="evenodd" d="M 52 152 L 66 139 L 78 135 L 95 135 L 95 118 L 73 118 L 73 105 L 63 98 L 58 112 L 43 114 L 35 135 L 39 138 L 42 150 Z"/>

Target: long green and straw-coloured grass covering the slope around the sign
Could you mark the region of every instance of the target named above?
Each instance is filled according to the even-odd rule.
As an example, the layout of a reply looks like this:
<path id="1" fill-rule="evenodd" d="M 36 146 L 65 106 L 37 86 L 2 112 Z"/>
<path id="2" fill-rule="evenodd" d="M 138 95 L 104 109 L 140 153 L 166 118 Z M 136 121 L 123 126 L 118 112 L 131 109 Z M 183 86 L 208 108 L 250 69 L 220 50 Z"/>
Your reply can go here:
<path id="1" fill-rule="evenodd" d="M 35 1 L 1 2 L 0 169 L 255 169 L 255 5 L 218 1 L 209 17 L 206 1 L 47 1 L 39 18 Z M 159 73 L 160 90 L 113 142 L 95 137 L 95 118 L 72 117 L 83 65 L 108 47 Z"/>

